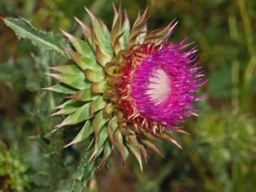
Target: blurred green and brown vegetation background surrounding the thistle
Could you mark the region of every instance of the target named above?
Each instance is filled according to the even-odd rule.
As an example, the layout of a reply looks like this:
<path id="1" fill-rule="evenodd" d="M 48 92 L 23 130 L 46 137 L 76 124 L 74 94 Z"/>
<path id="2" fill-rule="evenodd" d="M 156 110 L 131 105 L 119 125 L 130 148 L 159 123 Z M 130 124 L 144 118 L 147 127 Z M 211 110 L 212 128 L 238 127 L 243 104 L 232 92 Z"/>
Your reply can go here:
<path id="1" fill-rule="evenodd" d="M 86 6 L 112 24 L 110 0 L 1 0 L 0 16 L 21 16 L 33 26 L 81 36 L 74 16 L 88 22 Z M 189 37 L 209 82 L 201 89 L 199 117 L 184 127 L 191 135 L 183 149 L 160 143 L 164 158 L 151 154 L 140 171 L 131 157 L 125 166 L 115 154 L 97 171 L 98 191 L 256 191 L 256 1 L 122 0 L 131 21 L 149 6 L 149 28 L 174 18 L 171 36 Z M 40 53 L 0 21 L 0 191 L 55 191 L 73 174 L 85 144 L 63 149 L 70 131 L 49 135 L 58 119 L 50 103 L 62 95 L 42 90 L 52 82 L 46 66 L 65 63 L 54 53 Z M 71 133 L 72 134 L 72 133 Z M 93 184 L 94 182 L 92 182 Z"/>

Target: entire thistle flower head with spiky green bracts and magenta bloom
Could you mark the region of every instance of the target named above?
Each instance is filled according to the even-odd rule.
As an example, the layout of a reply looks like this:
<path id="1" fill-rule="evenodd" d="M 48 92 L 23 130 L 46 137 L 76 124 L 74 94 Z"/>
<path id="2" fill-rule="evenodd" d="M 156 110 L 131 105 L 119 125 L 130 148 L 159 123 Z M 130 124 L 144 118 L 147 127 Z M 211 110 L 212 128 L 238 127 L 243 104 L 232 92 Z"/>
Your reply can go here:
<path id="1" fill-rule="evenodd" d="M 90 138 L 90 160 L 102 157 L 104 164 L 116 148 L 123 161 L 134 154 L 142 168 L 147 149 L 161 155 L 156 141 L 179 146 L 173 133 L 186 133 L 180 123 L 196 114 L 194 94 L 205 82 L 196 48 L 188 48 L 186 40 L 169 41 L 175 22 L 148 30 L 147 9 L 130 26 L 127 13 L 114 7 L 111 32 L 86 11 L 92 27 L 75 18 L 84 40 L 63 31 L 73 46 L 65 48 L 73 64 L 50 68 L 55 73 L 48 74 L 60 82 L 47 89 L 68 94 L 53 114 L 66 115 L 55 130 L 82 123 L 67 146 Z"/>

